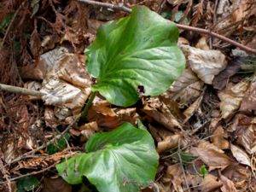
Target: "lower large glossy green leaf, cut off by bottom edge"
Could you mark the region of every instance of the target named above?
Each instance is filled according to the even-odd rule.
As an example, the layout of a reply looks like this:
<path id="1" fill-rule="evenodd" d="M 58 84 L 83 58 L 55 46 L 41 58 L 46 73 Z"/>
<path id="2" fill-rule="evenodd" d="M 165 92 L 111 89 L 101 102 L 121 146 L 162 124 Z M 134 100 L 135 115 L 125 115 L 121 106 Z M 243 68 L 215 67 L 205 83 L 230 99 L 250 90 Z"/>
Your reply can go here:
<path id="1" fill-rule="evenodd" d="M 88 154 L 75 154 L 56 166 L 67 183 L 82 183 L 84 176 L 99 191 L 132 192 L 154 181 L 159 156 L 148 131 L 125 123 L 94 134 L 85 148 Z"/>

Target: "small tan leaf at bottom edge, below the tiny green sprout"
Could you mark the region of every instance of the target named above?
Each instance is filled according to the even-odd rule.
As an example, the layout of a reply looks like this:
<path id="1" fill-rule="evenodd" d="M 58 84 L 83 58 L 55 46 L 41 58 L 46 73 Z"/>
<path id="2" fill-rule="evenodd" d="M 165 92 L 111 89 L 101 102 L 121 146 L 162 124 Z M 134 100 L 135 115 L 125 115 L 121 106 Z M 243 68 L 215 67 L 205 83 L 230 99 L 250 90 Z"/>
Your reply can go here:
<path id="1" fill-rule="evenodd" d="M 201 191 L 208 192 L 214 189 L 218 189 L 222 186 L 222 182 L 218 180 L 218 177 L 213 176 L 212 174 L 208 174 L 204 177 L 201 183 Z"/>

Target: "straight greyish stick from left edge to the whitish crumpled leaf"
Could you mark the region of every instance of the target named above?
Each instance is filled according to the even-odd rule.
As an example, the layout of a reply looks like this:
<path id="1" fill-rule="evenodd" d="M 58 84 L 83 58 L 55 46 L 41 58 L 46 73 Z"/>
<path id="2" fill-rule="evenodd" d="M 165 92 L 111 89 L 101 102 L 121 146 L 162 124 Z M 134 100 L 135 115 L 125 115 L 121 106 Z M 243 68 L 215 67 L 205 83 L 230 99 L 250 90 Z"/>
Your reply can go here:
<path id="1" fill-rule="evenodd" d="M 16 87 L 8 84 L 0 84 L 0 90 L 6 90 L 12 93 L 18 93 L 25 96 L 44 96 L 44 93 L 41 93 L 37 90 L 28 90 L 26 88 Z"/>

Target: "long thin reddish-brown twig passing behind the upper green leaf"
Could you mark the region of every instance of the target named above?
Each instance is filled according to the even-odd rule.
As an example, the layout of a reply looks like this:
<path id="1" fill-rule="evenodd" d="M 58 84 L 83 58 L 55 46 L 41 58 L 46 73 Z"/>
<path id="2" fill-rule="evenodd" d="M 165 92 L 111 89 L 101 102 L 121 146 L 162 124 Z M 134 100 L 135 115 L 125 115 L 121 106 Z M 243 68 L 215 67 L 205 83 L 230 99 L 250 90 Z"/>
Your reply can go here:
<path id="1" fill-rule="evenodd" d="M 88 4 L 92 4 L 92 5 L 96 5 L 96 6 L 100 6 L 100 7 L 104 7 L 104 8 L 118 10 L 118 11 L 124 11 L 126 13 L 131 14 L 131 9 L 126 8 L 125 6 L 118 6 L 118 5 L 115 5 L 112 3 L 102 3 L 102 2 L 96 2 L 96 1 L 91 1 L 91 0 L 79 0 L 79 2 L 88 3 Z M 201 28 L 198 28 L 195 26 L 186 26 L 186 25 L 181 25 L 181 24 L 176 24 L 176 25 L 178 28 L 183 29 L 183 30 L 187 30 L 187 31 L 191 31 L 191 32 L 199 32 L 199 33 L 207 34 L 208 36 L 212 36 L 214 38 L 218 38 L 220 40 L 223 40 L 226 43 L 233 44 L 236 47 L 247 51 L 248 53 L 256 55 L 256 49 L 252 49 L 252 48 L 247 47 L 246 45 L 239 44 L 236 41 L 234 41 L 230 38 L 225 38 L 223 35 L 220 35 L 216 32 L 210 32 L 207 29 L 201 29 Z"/>

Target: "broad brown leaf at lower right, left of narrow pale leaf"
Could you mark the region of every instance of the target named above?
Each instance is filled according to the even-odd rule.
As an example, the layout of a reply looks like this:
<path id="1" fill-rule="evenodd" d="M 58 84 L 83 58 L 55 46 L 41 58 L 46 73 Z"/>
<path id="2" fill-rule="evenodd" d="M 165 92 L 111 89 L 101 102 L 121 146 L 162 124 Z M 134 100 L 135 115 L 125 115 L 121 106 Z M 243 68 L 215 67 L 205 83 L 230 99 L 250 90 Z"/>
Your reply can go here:
<path id="1" fill-rule="evenodd" d="M 217 168 L 224 169 L 231 164 L 231 160 L 226 154 L 219 153 L 212 148 L 191 148 L 190 152 L 195 156 L 199 156 L 209 166 L 209 171 Z"/>

